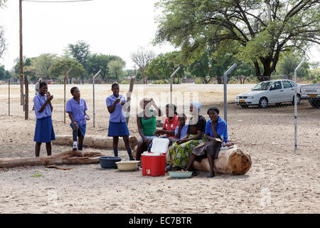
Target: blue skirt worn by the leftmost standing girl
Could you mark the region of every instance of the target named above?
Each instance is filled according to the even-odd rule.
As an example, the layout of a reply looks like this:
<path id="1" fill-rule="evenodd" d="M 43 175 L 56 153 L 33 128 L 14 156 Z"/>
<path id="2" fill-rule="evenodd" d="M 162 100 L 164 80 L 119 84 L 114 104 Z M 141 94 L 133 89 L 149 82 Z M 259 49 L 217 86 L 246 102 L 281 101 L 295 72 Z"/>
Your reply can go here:
<path id="1" fill-rule="evenodd" d="M 51 140 L 55 140 L 55 131 L 53 130 L 51 117 L 48 116 L 42 119 L 37 119 L 34 141 L 51 142 Z"/>

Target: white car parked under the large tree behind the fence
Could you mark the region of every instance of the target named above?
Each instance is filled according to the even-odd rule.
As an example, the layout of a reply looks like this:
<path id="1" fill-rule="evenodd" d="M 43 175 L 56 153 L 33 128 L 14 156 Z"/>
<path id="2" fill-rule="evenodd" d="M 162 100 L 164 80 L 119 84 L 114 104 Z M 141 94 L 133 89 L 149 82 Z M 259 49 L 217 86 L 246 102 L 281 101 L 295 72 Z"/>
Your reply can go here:
<path id="1" fill-rule="evenodd" d="M 297 103 L 300 103 L 300 85 L 297 85 Z M 235 98 L 235 103 L 242 108 L 249 105 L 259 105 L 260 108 L 267 108 L 271 103 L 292 102 L 294 104 L 294 81 L 270 80 L 262 81 L 250 91 L 240 93 Z"/>

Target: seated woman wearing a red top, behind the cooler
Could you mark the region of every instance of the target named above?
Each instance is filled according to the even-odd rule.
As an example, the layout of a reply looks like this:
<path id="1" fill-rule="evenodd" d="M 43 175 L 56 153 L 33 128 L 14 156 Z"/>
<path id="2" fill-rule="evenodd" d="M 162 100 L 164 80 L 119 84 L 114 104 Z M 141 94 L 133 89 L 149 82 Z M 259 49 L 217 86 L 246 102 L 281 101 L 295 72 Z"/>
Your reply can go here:
<path id="1" fill-rule="evenodd" d="M 160 136 L 164 135 L 161 138 L 168 138 L 170 140 L 169 145 L 172 145 L 173 142 L 176 142 L 176 136 L 174 134 L 176 127 L 178 126 L 178 115 L 176 113 L 176 105 L 167 104 L 166 105 L 166 120 L 164 121 L 164 127 L 162 130 L 156 130 L 154 135 Z M 151 150 L 152 142 L 149 145 L 148 151 Z"/>

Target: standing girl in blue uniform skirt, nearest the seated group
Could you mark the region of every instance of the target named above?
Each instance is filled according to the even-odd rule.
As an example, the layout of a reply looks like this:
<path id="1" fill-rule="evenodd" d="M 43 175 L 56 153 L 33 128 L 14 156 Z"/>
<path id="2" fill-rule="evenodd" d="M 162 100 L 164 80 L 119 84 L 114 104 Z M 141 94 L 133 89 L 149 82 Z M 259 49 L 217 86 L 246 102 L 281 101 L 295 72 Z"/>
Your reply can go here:
<path id="1" fill-rule="evenodd" d="M 114 156 L 118 157 L 118 142 L 119 137 L 122 137 L 129 155 L 129 160 L 134 160 L 129 143 L 129 129 L 123 110 L 123 105 L 127 103 L 127 101 L 123 95 L 119 94 L 120 88 L 118 83 L 113 83 L 111 86 L 111 90 L 113 94 L 107 97 L 106 103 L 107 109 L 110 113 L 108 136 L 113 138 Z"/>

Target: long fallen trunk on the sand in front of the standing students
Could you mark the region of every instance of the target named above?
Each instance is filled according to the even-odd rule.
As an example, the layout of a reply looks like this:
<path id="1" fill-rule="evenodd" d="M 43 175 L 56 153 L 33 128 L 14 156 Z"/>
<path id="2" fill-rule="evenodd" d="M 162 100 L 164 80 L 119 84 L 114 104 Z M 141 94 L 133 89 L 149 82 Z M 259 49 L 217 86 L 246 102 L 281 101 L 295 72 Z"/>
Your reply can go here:
<path id="1" fill-rule="evenodd" d="M 18 167 L 33 165 L 77 165 L 100 162 L 100 152 L 81 153 L 78 150 L 68 150 L 46 157 L 8 157 L 0 158 L 0 167 Z"/>

